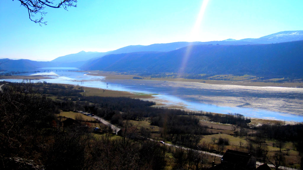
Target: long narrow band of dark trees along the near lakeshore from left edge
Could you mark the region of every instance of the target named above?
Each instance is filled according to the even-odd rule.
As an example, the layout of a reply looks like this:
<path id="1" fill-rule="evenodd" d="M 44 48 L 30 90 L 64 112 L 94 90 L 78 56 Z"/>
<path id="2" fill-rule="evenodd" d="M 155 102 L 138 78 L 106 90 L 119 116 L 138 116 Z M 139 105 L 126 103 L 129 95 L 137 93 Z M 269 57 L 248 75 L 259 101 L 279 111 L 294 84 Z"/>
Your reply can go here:
<path id="1" fill-rule="evenodd" d="M 238 126 L 247 126 L 251 120 L 244 117 L 241 114 L 214 114 L 210 112 L 188 112 L 177 109 L 162 109 L 159 107 L 150 107 L 155 105 L 155 102 L 143 101 L 139 99 L 132 99 L 126 97 L 100 97 L 100 96 L 82 96 L 83 87 L 74 87 L 72 85 L 52 84 L 47 82 L 40 83 L 8 83 L 14 88 L 30 88 L 25 90 L 28 92 L 34 91 L 35 93 L 44 95 L 54 95 L 58 99 L 54 101 L 57 108 L 65 111 L 81 110 L 88 113 L 92 113 L 106 120 L 112 121 L 112 123 L 121 123 L 125 119 L 125 113 L 127 113 L 127 119 L 143 120 L 151 117 L 151 122 L 154 125 L 161 125 L 162 115 L 204 115 L 210 118 L 210 121 L 219 123 L 228 123 Z M 19 89 L 20 91 L 20 89 Z M 184 124 L 185 122 L 183 122 Z"/>

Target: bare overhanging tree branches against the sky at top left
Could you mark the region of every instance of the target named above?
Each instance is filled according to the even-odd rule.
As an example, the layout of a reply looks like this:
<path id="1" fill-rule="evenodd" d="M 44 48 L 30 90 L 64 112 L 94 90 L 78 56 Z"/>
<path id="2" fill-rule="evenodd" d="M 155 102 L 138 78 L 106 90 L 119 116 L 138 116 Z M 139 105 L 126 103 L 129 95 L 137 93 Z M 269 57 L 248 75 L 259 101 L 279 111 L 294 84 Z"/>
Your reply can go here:
<path id="1" fill-rule="evenodd" d="M 13 0 L 14 1 L 14 0 Z M 28 11 L 28 17 L 31 21 L 46 25 L 46 21 L 43 21 L 43 16 L 47 14 L 44 11 L 45 7 L 61 8 L 67 10 L 68 7 L 77 7 L 77 0 L 18 0 L 21 2 L 20 6 L 24 6 Z M 33 19 L 35 15 L 40 14 L 41 18 Z"/>

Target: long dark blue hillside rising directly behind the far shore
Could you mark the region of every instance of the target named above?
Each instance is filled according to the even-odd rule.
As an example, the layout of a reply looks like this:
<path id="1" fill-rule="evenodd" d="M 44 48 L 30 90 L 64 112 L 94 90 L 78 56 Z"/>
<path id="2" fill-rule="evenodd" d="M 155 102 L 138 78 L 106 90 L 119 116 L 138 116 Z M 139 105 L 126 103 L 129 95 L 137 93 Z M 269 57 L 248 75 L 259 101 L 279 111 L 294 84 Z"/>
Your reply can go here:
<path id="1" fill-rule="evenodd" d="M 137 73 L 251 74 L 303 77 L 303 41 L 255 45 L 194 45 L 169 52 L 110 54 L 83 65 L 85 70 Z"/>

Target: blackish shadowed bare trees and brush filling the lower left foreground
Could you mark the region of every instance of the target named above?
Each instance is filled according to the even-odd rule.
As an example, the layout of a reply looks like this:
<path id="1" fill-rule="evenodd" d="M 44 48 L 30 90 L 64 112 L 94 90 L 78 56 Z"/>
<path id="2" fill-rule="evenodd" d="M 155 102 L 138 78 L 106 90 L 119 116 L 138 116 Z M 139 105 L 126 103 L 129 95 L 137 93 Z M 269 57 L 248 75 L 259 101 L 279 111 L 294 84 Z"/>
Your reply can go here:
<path id="1" fill-rule="evenodd" d="M 0 169 L 163 169 L 158 142 L 129 140 L 128 129 L 112 140 L 92 136 L 89 126 L 57 126 L 58 102 L 30 83 L 10 83 L 0 92 Z M 62 102 L 64 103 L 64 102 Z"/>

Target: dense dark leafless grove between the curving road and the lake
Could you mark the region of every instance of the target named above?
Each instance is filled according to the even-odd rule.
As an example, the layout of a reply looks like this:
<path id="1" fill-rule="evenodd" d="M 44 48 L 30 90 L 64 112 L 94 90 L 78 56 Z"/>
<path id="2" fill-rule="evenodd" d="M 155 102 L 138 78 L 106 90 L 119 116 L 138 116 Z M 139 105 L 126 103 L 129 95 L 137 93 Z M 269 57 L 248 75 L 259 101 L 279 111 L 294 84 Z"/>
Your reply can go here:
<path id="1" fill-rule="evenodd" d="M 154 104 L 124 97 L 83 96 L 75 103 L 64 101 L 59 107 L 67 109 L 66 106 L 70 106 L 69 110 L 85 110 L 119 126 L 123 126 L 125 119 L 143 120 L 149 117 L 151 126 L 161 127 L 161 137 L 174 144 L 195 146 L 202 134 L 209 134 L 207 128 L 201 126 L 199 120 L 188 112 L 150 107 Z M 142 129 L 142 135 L 149 137 L 150 132 Z"/>

